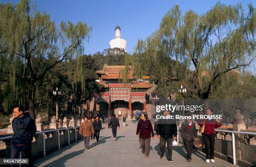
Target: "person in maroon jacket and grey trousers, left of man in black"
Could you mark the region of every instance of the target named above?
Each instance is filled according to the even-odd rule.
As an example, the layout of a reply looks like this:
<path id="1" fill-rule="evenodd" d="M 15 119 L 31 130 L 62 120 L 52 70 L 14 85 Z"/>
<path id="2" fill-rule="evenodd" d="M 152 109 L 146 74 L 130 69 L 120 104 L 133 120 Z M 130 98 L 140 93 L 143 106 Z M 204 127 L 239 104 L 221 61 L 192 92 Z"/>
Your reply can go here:
<path id="1" fill-rule="evenodd" d="M 141 114 L 141 119 L 137 124 L 136 135 L 140 137 L 141 152 L 144 154 L 145 158 L 148 159 L 150 152 L 150 140 L 151 136 L 154 139 L 154 130 L 151 121 L 147 119 L 148 114 Z M 139 134 L 139 135 L 138 135 Z"/>

